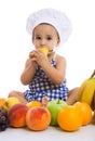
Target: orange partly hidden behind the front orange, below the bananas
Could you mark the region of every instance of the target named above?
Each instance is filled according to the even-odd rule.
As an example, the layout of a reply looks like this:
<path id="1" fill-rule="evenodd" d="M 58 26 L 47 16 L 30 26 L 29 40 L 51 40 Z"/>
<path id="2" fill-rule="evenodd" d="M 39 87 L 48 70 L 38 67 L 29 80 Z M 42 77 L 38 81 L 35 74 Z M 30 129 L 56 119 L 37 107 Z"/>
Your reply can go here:
<path id="1" fill-rule="evenodd" d="M 80 116 L 82 117 L 82 126 L 90 124 L 93 118 L 93 111 L 91 106 L 85 102 L 76 102 L 73 105 L 80 112 Z"/>

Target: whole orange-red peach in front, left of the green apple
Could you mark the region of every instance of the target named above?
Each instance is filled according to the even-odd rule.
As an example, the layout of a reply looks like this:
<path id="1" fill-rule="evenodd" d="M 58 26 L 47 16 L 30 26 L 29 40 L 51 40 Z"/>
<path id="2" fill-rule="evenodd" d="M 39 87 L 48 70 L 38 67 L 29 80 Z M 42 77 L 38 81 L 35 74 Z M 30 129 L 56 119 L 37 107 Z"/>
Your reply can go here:
<path id="1" fill-rule="evenodd" d="M 35 106 L 26 114 L 26 125 L 30 130 L 41 131 L 49 127 L 51 114 L 44 106 Z"/>

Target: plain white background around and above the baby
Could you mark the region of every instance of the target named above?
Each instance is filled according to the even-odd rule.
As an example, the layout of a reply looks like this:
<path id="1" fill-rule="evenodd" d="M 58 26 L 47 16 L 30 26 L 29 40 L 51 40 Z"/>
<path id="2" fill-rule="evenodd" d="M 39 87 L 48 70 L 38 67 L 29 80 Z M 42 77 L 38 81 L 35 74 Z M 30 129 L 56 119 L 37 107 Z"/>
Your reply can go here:
<path id="1" fill-rule="evenodd" d="M 95 2 L 94 0 L 2 0 L 0 1 L 0 97 L 11 90 L 26 89 L 19 76 L 32 49 L 26 31 L 30 13 L 55 8 L 67 14 L 73 30 L 58 50 L 67 60 L 68 87 L 80 86 L 95 68 Z"/>

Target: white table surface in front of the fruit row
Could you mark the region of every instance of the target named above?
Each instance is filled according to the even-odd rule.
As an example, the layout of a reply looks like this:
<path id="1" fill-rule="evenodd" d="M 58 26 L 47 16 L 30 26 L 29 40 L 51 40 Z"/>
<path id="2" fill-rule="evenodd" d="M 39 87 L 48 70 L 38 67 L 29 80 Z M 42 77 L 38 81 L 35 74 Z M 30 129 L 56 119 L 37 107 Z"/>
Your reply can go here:
<path id="1" fill-rule="evenodd" d="M 95 125 L 90 124 L 74 132 L 66 132 L 58 127 L 49 127 L 43 131 L 8 128 L 0 132 L 0 141 L 95 141 Z"/>

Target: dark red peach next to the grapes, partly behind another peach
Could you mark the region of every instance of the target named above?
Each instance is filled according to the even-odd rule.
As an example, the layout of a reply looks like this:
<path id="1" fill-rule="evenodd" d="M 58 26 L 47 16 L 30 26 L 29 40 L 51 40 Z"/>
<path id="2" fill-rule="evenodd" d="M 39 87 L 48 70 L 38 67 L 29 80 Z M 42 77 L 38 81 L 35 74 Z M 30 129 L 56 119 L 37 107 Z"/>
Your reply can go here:
<path id="1" fill-rule="evenodd" d="M 14 104 L 8 111 L 8 118 L 11 127 L 25 127 L 26 126 L 26 113 L 28 107 L 25 104 Z"/>

